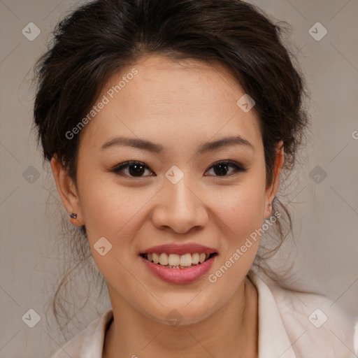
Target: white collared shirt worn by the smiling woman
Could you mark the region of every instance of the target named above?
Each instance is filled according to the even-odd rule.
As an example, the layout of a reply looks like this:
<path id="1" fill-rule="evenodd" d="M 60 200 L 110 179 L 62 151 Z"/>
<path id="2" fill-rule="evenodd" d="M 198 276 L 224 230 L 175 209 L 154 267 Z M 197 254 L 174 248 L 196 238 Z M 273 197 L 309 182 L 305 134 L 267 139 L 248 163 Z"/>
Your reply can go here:
<path id="1" fill-rule="evenodd" d="M 358 358 L 355 320 L 346 317 L 336 303 L 266 284 L 252 271 L 248 276 L 259 299 L 259 358 Z M 101 358 L 112 318 L 110 308 L 52 358 Z"/>

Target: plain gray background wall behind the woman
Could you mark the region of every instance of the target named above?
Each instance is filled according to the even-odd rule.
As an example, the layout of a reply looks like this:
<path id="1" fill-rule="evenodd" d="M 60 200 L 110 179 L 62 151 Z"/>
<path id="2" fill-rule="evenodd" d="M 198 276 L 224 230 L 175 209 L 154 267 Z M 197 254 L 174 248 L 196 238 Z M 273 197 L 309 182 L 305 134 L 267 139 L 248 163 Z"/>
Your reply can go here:
<path id="1" fill-rule="evenodd" d="M 295 268 L 308 280 L 302 279 L 305 287 L 358 315 L 358 1 L 251 2 L 292 25 L 293 51 L 313 99 L 312 136 L 283 199 L 295 220 Z M 45 315 L 59 279 L 61 260 L 54 242 L 61 235 L 53 214 L 58 196 L 52 176 L 29 134 L 34 96 L 29 85 L 51 29 L 77 3 L 0 0 L 0 357 L 49 357 L 64 343 L 51 315 L 48 320 Z M 22 34 L 29 22 L 41 29 L 34 41 Z M 328 31 L 320 41 L 309 33 L 316 22 Z M 313 31 L 322 34 L 322 29 Z M 71 334 L 87 327 L 110 303 L 105 296 L 92 306 L 71 323 Z M 22 321 L 30 308 L 41 317 L 34 328 Z"/>

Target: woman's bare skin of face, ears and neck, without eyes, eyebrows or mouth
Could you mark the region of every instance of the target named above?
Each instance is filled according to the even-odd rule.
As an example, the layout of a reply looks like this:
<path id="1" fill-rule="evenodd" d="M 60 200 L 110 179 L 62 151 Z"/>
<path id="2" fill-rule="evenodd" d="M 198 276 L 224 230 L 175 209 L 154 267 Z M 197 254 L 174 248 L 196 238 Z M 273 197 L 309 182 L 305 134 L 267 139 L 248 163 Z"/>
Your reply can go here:
<path id="1" fill-rule="evenodd" d="M 257 357 L 257 291 L 246 275 L 259 240 L 217 282 L 209 282 L 208 274 L 270 217 L 282 143 L 274 180 L 266 186 L 255 107 L 244 113 L 236 105 L 245 92 L 218 63 L 172 62 L 151 55 L 115 73 L 99 99 L 134 67 L 138 75 L 81 132 L 76 182 L 56 157 L 51 161 L 64 206 L 78 215 L 70 220 L 86 225 L 94 261 L 108 285 L 114 322 L 103 357 Z M 101 149 L 116 136 L 146 139 L 165 150 Z M 252 147 L 197 152 L 201 144 L 227 136 L 242 136 Z M 141 178 L 131 176 L 128 168 L 122 176 L 111 172 L 129 160 L 149 169 Z M 247 171 L 228 166 L 220 176 L 213 166 L 220 160 L 237 162 Z M 173 165 L 184 174 L 175 185 L 165 176 Z M 113 248 L 101 256 L 93 246 L 103 236 Z M 199 243 L 218 255 L 199 280 L 171 284 L 152 275 L 138 256 L 166 243 Z M 174 309 L 182 316 L 176 327 L 166 320 Z"/>

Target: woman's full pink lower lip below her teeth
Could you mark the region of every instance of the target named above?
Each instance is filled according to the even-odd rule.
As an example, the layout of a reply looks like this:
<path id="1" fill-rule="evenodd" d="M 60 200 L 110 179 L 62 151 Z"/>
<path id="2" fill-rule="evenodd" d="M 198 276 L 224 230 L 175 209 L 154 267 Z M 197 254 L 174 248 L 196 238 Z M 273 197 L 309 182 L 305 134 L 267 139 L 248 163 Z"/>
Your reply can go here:
<path id="1" fill-rule="evenodd" d="M 210 259 L 206 260 L 206 262 L 203 262 L 203 264 L 189 268 L 169 268 L 155 264 L 154 262 L 151 262 L 142 256 L 141 259 L 145 265 L 147 265 L 149 270 L 157 277 L 162 278 L 162 280 L 171 283 L 188 283 L 198 280 L 201 278 L 201 276 L 205 275 L 209 271 L 216 256 L 217 255 L 210 257 Z"/>

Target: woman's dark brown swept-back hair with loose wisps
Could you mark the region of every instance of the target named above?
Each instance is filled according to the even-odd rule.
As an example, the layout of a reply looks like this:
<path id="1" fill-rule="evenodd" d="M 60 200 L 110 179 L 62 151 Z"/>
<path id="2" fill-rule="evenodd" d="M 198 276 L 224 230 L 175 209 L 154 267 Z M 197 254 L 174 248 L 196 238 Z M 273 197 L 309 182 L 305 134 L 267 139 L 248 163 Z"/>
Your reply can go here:
<path id="1" fill-rule="evenodd" d="M 44 158 L 56 155 L 76 182 L 80 134 L 69 139 L 66 132 L 89 112 L 113 73 L 156 53 L 172 60 L 216 61 L 231 71 L 255 100 L 270 184 L 276 146 L 283 141 L 284 170 L 290 171 L 308 124 L 303 108 L 308 92 L 283 43 L 285 25 L 240 0 L 97 0 L 81 6 L 57 24 L 36 65 L 34 124 Z M 282 243 L 292 230 L 291 217 L 277 197 L 273 210 L 285 214 L 275 222 Z M 90 259 L 84 237 L 82 227 L 71 238 L 77 266 Z M 66 315 L 59 291 L 68 277 L 53 299 L 56 317 L 59 310 Z"/>

